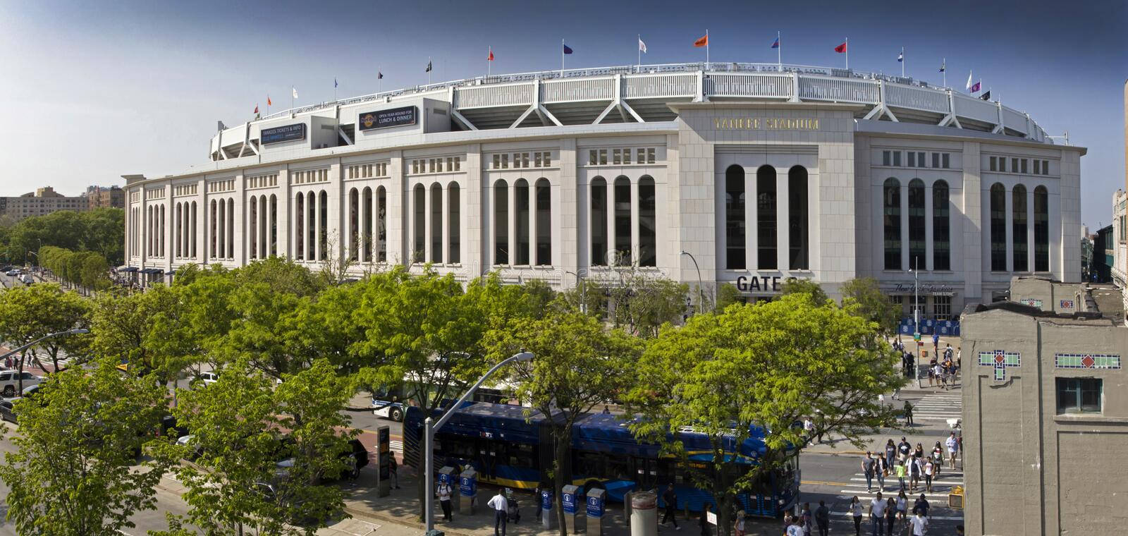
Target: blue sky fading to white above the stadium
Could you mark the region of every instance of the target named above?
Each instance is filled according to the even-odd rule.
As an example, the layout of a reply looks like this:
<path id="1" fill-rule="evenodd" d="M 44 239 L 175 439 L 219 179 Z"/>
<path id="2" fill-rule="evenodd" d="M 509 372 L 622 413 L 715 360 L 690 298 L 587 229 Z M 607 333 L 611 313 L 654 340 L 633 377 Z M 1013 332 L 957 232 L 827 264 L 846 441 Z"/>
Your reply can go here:
<path id="1" fill-rule="evenodd" d="M 205 161 L 215 121 L 338 95 L 473 77 L 704 60 L 841 65 L 962 88 L 968 71 L 1051 134 L 1069 132 L 1082 159 L 1084 223 L 1108 225 L 1123 187 L 1123 1 L 1072 2 L 212 2 L 0 0 L 0 195 L 38 185 L 77 194 L 120 176 L 177 173 Z"/>

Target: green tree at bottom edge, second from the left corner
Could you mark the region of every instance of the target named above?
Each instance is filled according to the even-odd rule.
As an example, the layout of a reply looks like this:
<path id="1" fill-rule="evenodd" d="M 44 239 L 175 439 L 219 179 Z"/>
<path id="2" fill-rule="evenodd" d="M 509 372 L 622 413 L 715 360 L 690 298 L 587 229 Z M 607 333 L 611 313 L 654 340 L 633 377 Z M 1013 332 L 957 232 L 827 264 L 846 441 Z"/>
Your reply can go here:
<path id="1" fill-rule="evenodd" d="M 315 360 L 276 389 L 240 360 L 206 388 L 180 393 L 173 412 L 193 438 L 164 449 L 161 457 L 199 449 L 194 465 L 176 468 L 188 489 L 183 498 L 191 522 L 205 534 L 243 534 L 246 526 L 258 534 L 311 535 L 340 516 L 342 490 L 317 483 L 347 469 L 342 455 L 355 432 L 337 432 L 347 425 L 340 413 L 347 395 L 345 380 L 326 360 Z M 279 474 L 283 459 L 292 463 Z"/>

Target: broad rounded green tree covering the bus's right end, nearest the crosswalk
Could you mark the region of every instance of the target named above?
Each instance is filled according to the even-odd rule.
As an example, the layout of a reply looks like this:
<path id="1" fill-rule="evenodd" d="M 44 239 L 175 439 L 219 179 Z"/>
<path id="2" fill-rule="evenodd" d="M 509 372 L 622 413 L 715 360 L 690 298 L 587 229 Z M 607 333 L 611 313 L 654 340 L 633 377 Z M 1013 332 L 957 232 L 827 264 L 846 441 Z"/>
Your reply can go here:
<path id="1" fill-rule="evenodd" d="M 876 326 L 832 302 L 792 293 L 724 314 L 698 315 L 681 328 L 664 328 L 633 370 L 628 396 L 642 419 L 629 424 L 643 441 L 679 459 L 695 486 L 713 494 L 719 530 L 728 534 L 737 494 L 765 472 L 799 456 L 803 431 L 793 424 L 821 415 L 816 433 L 835 433 L 861 447 L 890 412 L 878 395 L 904 380 L 897 358 Z M 693 427 L 708 438 L 707 463 L 689 463 L 670 431 Z M 731 456 L 754 428 L 765 452 L 749 468 Z M 796 448 L 799 447 L 799 448 Z"/>

